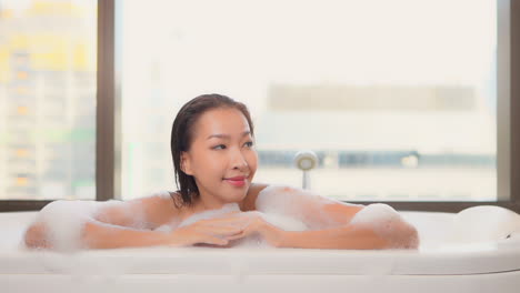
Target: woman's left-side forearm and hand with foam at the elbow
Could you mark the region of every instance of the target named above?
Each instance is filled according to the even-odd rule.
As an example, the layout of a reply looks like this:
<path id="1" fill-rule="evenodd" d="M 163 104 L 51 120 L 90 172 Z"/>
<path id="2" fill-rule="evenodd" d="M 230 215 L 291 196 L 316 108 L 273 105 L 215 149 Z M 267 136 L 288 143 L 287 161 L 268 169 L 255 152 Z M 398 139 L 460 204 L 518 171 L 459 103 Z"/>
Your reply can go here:
<path id="1" fill-rule="evenodd" d="M 239 212 L 231 212 L 218 219 L 201 220 L 171 232 L 159 232 L 103 223 L 81 214 L 74 215 L 73 208 L 84 208 L 81 202 L 61 202 L 50 208 L 41 221 L 37 221 L 27 230 L 24 241 L 28 247 L 69 251 L 154 245 L 186 246 L 196 243 L 227 245 L 233 235 L 243 230 L 243 216 Z M 72 210 L 72 213 L 64 213 L 62 210 Z M 151 209 L 151 212 L 153 211 L 157 210 Z M 101 214 L 103 220 L 133 223 L 124 210 L 110 209 Z"/>

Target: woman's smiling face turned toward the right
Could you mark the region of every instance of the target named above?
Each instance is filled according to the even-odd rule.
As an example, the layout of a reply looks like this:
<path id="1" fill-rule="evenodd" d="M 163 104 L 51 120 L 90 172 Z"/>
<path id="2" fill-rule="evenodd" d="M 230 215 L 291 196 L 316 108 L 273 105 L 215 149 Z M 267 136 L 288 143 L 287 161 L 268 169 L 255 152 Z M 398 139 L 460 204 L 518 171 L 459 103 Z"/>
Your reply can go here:
<path id="1" fill-rule="evenodd" d="M 204 205 L 218 209 L 243 200 L 257 171 L 258 154 L 242 112 L 209 110 L 194 123 L 192 134 L 190 150 L 181 154 L 181 168 L 194 176 Z"/>

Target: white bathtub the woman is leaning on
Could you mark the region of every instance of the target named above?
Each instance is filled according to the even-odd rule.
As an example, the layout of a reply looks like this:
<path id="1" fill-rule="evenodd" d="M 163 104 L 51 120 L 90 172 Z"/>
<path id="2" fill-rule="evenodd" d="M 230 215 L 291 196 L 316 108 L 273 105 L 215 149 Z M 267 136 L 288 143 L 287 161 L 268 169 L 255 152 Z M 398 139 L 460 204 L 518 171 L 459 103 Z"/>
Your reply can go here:
<path id="1" fill-rule="evenodd" d="M 418 251 L 20 246 L 36 212 L 0 213 L 0 292 L 520 292 L 520 241 L 447 244 L 454 214 L 401 212 Z"/>

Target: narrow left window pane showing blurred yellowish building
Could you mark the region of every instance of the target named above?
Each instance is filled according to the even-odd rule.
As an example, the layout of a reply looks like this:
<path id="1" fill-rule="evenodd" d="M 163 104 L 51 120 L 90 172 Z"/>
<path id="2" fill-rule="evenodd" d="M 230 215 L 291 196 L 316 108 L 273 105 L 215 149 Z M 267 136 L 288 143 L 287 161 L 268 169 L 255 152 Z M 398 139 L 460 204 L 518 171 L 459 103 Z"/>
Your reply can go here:
<path id="1" fill-rule="evenodd" d="M 97 1 L 0 0 L 0 199 L 96 199 Z"/>

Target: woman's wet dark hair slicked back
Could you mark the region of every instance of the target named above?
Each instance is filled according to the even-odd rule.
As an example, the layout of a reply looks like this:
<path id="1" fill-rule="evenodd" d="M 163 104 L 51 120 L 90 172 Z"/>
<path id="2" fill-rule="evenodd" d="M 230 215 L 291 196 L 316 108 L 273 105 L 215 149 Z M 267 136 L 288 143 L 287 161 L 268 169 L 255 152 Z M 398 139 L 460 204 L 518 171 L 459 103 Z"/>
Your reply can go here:
<path id="1" fill-rule="evenodd" d="M 173 159 L 176 185 L 179 189 L 177 194 L 180 195 L 180 199 L 176 199 L 174 195 L 172 195 L 177 208 L 184 204 L 191 205 L 194 200 L 200 196 L 194 178 L 186 174 L 180 168 L 181 154 L 190 150 L 191 143 L 193 142 L 193 128 L 199 118 L 204 112 L 218 108 L 231 108 L 242 112 L 248 120 L 251 137 L 254 137 L 253 123 L 246 104 L 218 93 L 201 94 L 187 102 L 177 113 L 173 127 L 171 128 L 171 156 Z"/>

